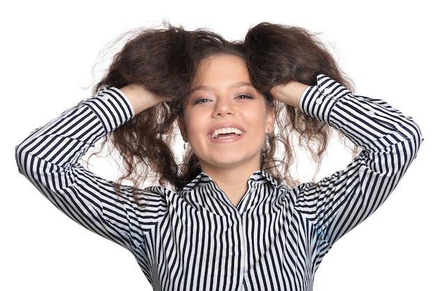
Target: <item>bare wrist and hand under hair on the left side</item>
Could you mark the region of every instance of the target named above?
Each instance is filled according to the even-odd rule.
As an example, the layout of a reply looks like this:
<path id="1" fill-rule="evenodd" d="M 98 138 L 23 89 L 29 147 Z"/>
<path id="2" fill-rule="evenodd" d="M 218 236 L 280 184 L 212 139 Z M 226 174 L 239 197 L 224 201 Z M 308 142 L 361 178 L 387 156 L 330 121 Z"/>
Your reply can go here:
<path id="1" fill-rule="evenodd" d="M 132 103 L 135 115 L 161 102 L 171 101 L 171 98 L 157 96 L 140 84 L 128 84 L 120 88 L 120 91 L 122 91 L 130 100 L 130 103 Z"/>

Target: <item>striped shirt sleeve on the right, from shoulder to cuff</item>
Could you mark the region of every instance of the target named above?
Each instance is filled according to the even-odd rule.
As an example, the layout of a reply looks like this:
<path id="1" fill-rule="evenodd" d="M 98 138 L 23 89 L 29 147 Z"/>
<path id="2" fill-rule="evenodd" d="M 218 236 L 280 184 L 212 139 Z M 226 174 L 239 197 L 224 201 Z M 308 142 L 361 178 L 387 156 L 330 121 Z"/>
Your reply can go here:
<path id="1" fill-rule="evenodd" d="M 361 153 L 343 171 L 306 184 L 296 207 L 328 244 L 364 221 L 387 199 L 416 157 L 421 131 L 383 100 L 355 96 L 325 75 L 306 89 L 303 112 L 336 128 Z"/>

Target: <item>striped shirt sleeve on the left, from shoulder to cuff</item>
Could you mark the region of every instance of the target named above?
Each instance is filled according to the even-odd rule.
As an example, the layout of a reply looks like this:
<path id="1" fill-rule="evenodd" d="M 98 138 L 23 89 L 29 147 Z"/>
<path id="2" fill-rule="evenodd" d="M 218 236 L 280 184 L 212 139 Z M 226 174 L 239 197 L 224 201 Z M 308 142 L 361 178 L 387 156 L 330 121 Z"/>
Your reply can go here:
<path id="1" fill-rule="evenodd" d="M 121 91 L 105 89 L 34 130 L 16 147 L 20 173 L 50 202 L 88 230 L 130 250 L 143 241 L 142 209 L 132 188 L 116 191 L 111 181 L 86 170 L 79 159 L 133 115 Z M 147 195 L 150 205 L 159 201 L 152 193 Z"/>

